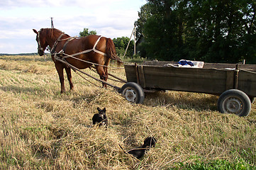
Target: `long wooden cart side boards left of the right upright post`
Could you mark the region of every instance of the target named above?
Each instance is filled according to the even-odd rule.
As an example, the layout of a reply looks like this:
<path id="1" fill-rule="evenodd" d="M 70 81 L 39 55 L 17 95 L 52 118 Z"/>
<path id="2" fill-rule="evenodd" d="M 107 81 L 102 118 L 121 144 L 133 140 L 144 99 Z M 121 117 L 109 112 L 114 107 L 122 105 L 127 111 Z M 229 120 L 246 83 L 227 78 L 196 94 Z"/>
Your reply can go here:
<path id="1" fill-rule="evenodd" d="M 125 68 L 127 81 L 137 82 L 135 66 Z M 143 74 L 144 88 L 149 89 L 207 94 L 222 94 L 233 89 L 233 71 L 228 70 L 143 66 Z M 139 81 L 142 81 L 140 77 Z"/>

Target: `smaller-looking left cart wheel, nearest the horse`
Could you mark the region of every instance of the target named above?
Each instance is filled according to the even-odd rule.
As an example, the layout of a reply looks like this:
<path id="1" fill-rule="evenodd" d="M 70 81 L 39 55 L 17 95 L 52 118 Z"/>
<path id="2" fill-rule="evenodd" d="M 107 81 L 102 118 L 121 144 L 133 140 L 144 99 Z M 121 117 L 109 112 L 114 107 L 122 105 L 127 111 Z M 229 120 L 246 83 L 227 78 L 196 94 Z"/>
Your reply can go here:
<path id="1" fill-rule="evenodd" d="M 145 94 L 141 86 L 134 82 L 124 84 L 120 93 L 126 98 L 126 100 L 132 103 L 143 103 L 145 98 Z"/>

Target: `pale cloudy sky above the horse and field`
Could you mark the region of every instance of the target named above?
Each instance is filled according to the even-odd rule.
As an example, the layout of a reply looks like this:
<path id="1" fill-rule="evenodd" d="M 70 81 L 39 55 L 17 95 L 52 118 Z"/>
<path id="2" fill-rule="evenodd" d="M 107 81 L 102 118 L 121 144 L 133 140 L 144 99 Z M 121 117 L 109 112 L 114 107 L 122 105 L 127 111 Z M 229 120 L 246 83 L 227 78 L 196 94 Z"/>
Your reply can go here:
<path id="1" fill-rule="evenodd" d="M 51 27 L 70 36 L 84 28 L 107 38 L 129 37 L 146 0 L 1 0 L 0 53 L 37 52 L 32 29 Z"/>

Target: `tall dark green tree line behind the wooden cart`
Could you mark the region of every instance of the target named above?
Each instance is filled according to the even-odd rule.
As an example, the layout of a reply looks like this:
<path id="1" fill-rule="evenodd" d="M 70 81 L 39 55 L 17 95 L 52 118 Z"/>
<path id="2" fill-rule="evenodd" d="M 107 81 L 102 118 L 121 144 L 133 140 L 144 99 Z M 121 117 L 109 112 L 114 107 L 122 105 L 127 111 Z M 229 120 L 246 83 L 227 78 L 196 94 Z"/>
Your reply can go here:
<path id="1" fill-rule="evenodd" d="M 141 57 L 256 64 L 255 0 L 147 0 L 138 15 Z"/>

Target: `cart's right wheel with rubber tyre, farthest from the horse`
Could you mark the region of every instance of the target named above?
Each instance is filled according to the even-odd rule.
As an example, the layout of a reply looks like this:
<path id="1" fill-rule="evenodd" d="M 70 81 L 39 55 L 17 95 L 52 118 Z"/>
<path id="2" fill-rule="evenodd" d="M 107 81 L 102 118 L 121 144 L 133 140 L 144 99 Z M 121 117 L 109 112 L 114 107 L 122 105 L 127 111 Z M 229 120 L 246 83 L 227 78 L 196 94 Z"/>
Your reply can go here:
<path id="1" fill-rule="evenodd" d="M 218 111 L 221 113 L 235 113 L 239 116 L 247 116 L 250 113 L 250 98 L 237 89 L 230 89 L 218 98 Z"/>

